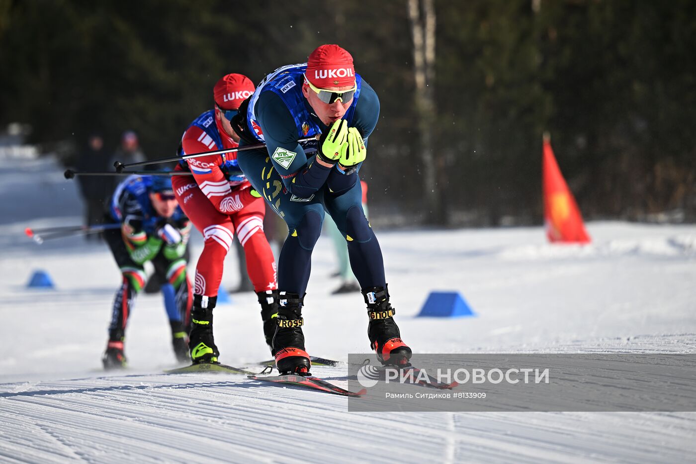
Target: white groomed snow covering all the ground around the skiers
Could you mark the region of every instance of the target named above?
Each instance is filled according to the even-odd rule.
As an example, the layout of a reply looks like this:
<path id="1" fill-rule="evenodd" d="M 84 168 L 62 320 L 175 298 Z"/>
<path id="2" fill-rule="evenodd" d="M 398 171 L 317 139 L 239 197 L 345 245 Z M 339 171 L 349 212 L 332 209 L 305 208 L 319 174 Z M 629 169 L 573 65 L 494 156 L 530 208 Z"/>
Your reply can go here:
<path id="1" fill-rule="evenodd" d="M 159 295 L 136 302 L 129 370 L 106 373 L 120 282 L 106 245 L 23 235 L 79 224 L 75 181 L 45 160 L 0 166 L 0 462 L 693 462 L 692 412 L 350 413 L 340 396 L 244 376 L 164 375 L 175 362 Z M 587 247 L 548 245 L 541 227 L 377 231 L 404 339 L 420 353 L 693 353 L 696 226 L 587 226 Z M 26 288 L 35 269 L 56 290 Z M 367 318 L 361 295 L 331 295 L 334 269 L 322 238 L 305 334 L 310 354 L 345 360 L 369 350 Z M 434 290 L 459 291 L 477 317 L 416 318 Z M 255 295 L 233 294 L 215 318 L 221 361 L 258 369 Z M 313 373 L 347 383 L 345 366 Z"/>

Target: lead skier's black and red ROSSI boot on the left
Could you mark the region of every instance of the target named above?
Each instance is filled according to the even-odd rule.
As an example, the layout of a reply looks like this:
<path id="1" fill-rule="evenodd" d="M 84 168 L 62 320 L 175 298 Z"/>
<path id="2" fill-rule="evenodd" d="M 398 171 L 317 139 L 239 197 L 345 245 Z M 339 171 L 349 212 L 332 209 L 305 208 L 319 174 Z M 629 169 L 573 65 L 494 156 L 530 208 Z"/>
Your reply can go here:
<path id="1" fill-rule="evenodd" d="M 273 337 L 273 355 L 281 374 L 307 375 L 312 363 L 304 348 L 302 334 L 302 304 L 304 297 L 297 293 L 278 293 L 276 333 Z"/>

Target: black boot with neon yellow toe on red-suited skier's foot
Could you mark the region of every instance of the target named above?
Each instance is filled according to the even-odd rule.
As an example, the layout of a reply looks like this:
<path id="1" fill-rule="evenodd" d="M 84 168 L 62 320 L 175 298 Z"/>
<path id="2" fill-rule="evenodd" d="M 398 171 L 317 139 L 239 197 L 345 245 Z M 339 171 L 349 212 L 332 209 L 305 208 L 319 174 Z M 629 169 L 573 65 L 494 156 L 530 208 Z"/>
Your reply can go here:
<path id="1" fill-rule="evenodd" d="M 193 295 L 189 350 L 193 364 L 218 364 L 220 355 L 213 340 L 213 308 L 217 297 Z"/>

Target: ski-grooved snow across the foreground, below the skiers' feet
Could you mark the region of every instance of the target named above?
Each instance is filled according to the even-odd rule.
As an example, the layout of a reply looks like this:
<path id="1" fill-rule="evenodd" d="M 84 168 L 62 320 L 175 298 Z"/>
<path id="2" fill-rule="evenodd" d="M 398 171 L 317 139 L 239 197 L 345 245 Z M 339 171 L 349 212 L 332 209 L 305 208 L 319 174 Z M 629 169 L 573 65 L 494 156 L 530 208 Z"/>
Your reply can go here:
<path id="1" fill-rule="evenodd" d="M 696 452 L 693 413 L 349 413 L 341 396 L 211 374 L 0 391 L 0 457 L 18 462 L 675 462 Z"/>

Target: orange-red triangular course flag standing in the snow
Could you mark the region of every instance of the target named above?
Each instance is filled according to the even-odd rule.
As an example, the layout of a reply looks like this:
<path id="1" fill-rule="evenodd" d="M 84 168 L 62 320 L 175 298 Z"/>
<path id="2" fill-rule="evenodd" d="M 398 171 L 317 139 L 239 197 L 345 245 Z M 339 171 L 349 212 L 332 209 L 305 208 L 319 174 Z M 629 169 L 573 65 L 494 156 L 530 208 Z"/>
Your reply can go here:
<path id="1" fill-rule="evenodd" d="M 551 140 L 544 136 L 544 225 L 550 242 L 590 243 L 578 203 L 558 168 Z"/>

